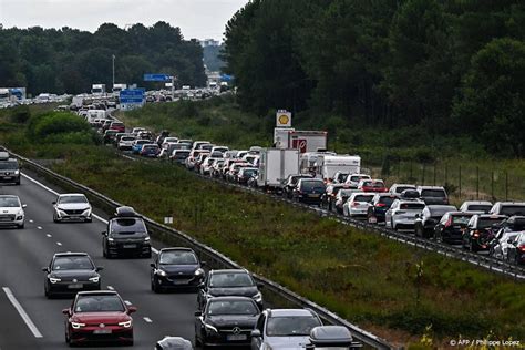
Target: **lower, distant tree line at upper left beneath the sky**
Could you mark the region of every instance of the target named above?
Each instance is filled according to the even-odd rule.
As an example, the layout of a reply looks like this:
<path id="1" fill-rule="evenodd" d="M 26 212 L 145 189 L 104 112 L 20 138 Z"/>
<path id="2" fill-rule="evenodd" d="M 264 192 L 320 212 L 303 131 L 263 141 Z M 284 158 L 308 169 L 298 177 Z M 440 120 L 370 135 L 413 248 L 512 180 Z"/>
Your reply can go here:
<path id="1" fill-rule="evenodd" d="M 144 86 L 144 73 L 175 74 L 181 85 L 206 82 L 203 50 L 197 41 L 184 40 L 179 28 L 157 22 L 123 30 L 104 23 L 94 33 L 0 29 L 0 86 L 27 86 L 32 94 L 87 92 L 94 83 L 111 89 L 113 54 L 115 83 Z"/>

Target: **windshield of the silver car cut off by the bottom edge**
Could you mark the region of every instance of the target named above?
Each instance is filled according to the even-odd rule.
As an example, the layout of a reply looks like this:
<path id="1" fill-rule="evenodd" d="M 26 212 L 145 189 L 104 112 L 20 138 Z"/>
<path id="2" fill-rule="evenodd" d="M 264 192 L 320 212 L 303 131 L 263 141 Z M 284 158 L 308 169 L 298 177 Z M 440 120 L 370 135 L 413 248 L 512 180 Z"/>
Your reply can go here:
<path id="1" fill-rule="evenodd" d="M 269 337 L 309 336 L 311 329 L 317 326 L 321 325 L 313 316 L 271 317 L 268 319 L 266 333 Z"/>

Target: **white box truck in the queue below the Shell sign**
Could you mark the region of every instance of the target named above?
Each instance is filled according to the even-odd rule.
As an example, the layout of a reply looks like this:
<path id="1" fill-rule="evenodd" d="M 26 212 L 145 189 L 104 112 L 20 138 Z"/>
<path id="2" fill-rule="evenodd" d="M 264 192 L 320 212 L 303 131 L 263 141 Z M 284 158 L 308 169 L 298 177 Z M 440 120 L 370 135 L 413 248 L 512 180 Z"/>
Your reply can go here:
<path id="1" fill-rule="evenodd" d="M 262 148 L 259 158 L 257 186 L 279 189 L 291 174 L 299 174 L 299 151 Z"/>

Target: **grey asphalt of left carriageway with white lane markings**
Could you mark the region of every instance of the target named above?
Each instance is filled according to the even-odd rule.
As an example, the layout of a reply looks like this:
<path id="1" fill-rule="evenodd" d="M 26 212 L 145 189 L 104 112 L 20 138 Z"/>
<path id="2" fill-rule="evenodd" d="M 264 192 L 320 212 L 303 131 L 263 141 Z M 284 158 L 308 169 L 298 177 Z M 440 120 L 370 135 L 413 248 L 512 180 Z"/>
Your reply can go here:
<path id="1" fill-rule="evenodd" d="M 61 191 L 29 173 L 22 185 L 0 188 L 1 194 L 18 195 L 28 205 L 24 229 L 0 229 L 0 349 L 68 348 L 62 309 L 71 305 L 71 299 L 49 300 L 43 292 L 42 267 L 56 251 L 90 254 L 97 266 L 104 267 L 103 288 L 115 289 L 126 303 L 138 308 L 133 315 L 134 349 L 152 349 L 156 340 L 167 334 L 193 341 L 196 295 L 153 294 L 150 259 L 103 258 L 101 233 L 105 230 L 106 215 L 96 208 L 100 216 L 93 223 L 53 223 L 51 203 L 58 192 Z M 163 247 L 155 240 L 153 246 Z"/>

